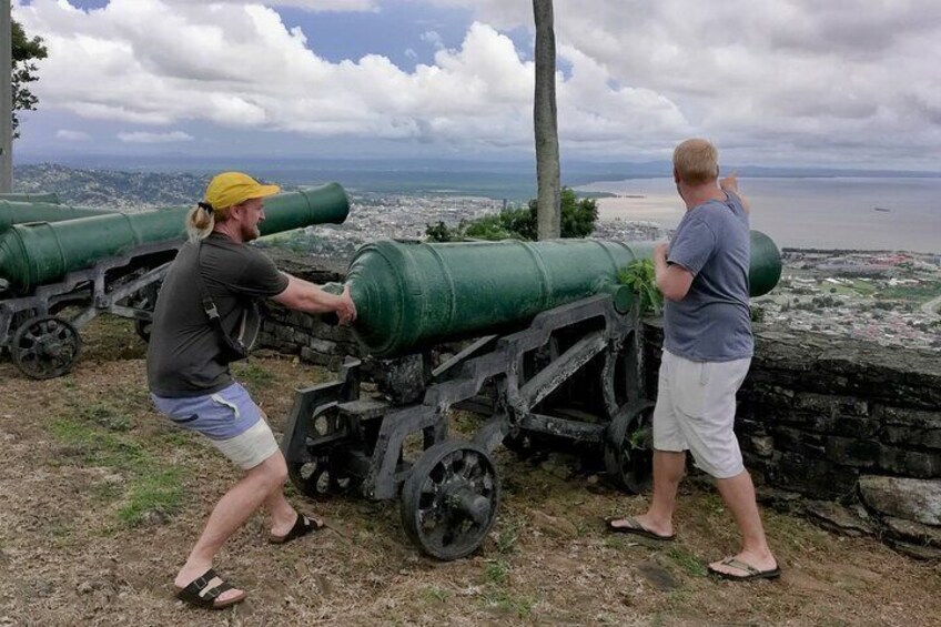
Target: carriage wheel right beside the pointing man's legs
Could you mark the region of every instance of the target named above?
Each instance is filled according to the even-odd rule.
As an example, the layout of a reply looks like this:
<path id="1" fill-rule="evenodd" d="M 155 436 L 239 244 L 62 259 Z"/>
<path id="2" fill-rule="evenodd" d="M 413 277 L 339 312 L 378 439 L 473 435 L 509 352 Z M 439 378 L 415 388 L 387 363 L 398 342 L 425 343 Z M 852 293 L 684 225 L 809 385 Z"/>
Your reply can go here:
<path id="1" fill-rule="evenodd" d="M 608 425 L 605 468 L 621 489 L 639 494 L 650 485 L 654 461 L 654 404 L 642 402 L 623 408 Z"/>

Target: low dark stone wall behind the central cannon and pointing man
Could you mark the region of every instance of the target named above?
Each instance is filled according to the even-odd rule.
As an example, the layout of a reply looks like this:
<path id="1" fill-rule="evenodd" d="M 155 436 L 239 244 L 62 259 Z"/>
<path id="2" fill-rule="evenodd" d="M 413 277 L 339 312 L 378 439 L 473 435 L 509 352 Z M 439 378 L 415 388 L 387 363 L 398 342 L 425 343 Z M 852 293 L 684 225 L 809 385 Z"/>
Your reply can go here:
<path id="1" fill-rule="evenodd" d="M 289 271 L 315 283 L 343 280 L 341 271 Z M 652 398 L 662 330 L 648 324 L 645 337 Z M 331 370 L 346 355 L 365 356 L 348 328 L 277 305 L 265 309 L 259 340 Z M 755 353 L 736 432 L 763 500 L 941 558 L 938 353 L 770 328 L 757 330 Z M 377 380 L 386 371 L 365 365 Z M 403 390 L 402 382 L 378 384 Z"/>

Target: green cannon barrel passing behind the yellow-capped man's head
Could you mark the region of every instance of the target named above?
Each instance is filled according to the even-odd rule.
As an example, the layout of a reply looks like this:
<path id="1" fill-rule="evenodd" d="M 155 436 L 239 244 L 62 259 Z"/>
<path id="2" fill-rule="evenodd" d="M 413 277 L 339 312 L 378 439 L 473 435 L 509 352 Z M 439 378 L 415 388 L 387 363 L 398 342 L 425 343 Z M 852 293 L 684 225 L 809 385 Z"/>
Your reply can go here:
<path id="1" fill-rule="evenodd" d="M 24 294 L 142 244 L 182 242 L 188 212 L 189 208 L 181 208 L 13 225 L 0 233 L 0 279 L 8 289 Z M 265 220 L 259 230 L 270 235 L 311 224 L 338 224 L 348 213 L 346 192 L 330 183 L 266 199 Z"/>

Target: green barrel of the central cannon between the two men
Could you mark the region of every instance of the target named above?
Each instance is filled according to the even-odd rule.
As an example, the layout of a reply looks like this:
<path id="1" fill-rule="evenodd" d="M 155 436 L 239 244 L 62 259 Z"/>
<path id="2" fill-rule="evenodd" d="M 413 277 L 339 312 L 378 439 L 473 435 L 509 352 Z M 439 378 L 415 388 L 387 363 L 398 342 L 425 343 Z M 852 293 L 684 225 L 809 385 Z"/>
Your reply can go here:
<path id="1" fill-rule="evenodd" d="M 356 337 L 377 357 L 436 342 L 499 332 L 536 314 L 601 292 L 624 301 L 617 273 L 650 259 L 651 242 L 397 243 L 360 249 L 346 284 L 358 317 Z M 751 232 L 750 295 L 780 279 L 775 242 Z"/>

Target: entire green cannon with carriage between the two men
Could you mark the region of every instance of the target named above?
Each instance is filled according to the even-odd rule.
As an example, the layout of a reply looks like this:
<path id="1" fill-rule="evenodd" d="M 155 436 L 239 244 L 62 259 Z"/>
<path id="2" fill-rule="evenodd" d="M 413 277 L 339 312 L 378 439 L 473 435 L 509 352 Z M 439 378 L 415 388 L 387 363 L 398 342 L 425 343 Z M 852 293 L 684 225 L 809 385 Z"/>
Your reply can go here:
<path id="1" fill-rule="evenodd" d="M 337 381 L 296 392 L 281 444 L 291 482 L 313 498 L 398 497 L 405 535 L 438 559 L 469 555 L 494 526 L 500 444 L 581 454 L 617 487 L 645 489 L 647 331 L 617 274 L 652 254 L 649 242 L 593 240 L 360 249 L 346 276 L 353 331 L 384 361 L 347 360 Z M 749 266 L 753 296 L 780 279 L 758 232 Z M 468 337 L 446 357 L 419 350 Z M 373 390 L 360 385 L 367 368 Z M 453 407 L 482 418 L 473 435 L 451 433 Z"/>

